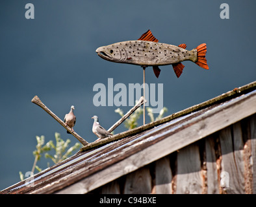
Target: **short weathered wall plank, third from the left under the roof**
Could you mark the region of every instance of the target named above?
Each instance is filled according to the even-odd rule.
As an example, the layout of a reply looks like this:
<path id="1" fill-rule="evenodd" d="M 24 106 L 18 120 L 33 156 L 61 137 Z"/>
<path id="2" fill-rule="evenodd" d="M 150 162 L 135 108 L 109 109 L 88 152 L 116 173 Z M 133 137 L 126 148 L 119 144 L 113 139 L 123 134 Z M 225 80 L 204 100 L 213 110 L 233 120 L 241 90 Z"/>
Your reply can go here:
<path id="1" fill-rule="evenodd" d="M 157 194 L 172 194 L 172 170 L 168 156 L 156 161 L 155 184 Z"/>

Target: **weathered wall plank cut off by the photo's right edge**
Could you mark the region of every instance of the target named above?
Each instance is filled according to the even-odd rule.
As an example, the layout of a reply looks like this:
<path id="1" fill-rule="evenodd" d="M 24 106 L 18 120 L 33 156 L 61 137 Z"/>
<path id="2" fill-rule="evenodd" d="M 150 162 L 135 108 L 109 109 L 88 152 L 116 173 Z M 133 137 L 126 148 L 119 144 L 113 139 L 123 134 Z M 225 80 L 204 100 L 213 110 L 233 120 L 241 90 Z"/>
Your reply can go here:
<path id="1" fill-rule="evenodd" d="M 251 164 L 253 165 L 253 194 L 256 194 L 256 114 L 250 118 Z"/>

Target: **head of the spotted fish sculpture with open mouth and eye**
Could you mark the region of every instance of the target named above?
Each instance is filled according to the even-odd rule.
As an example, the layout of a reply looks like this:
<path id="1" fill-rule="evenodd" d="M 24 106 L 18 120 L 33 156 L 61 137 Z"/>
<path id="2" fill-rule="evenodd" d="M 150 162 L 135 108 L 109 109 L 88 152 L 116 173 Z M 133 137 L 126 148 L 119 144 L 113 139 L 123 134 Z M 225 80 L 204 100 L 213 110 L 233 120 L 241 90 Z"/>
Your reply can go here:
<path id="1" fill-rule="evenodd" d="M 122 62 L 127 59 L 127 54 L 121 47 L 116 47 L 116 45 L 107 45 L 99 47 L 97 50 L 97 55 L 105 60 L 113 62 Z"/>

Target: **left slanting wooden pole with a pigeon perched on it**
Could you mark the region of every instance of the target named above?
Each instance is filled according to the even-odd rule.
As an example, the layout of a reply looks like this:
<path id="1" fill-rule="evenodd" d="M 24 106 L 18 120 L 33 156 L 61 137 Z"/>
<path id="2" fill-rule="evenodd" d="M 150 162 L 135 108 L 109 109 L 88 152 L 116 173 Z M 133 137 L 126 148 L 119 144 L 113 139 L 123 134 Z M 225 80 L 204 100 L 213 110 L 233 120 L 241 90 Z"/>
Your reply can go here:
<path id="1" fill-rule="evenodd" d="M 89 144 L 81 136 L 79 136 L 77 133 L 75 133 L 75 131 L 72 132 L 71 128 L 69 126 L 66 126 L 65 123 L 60 118 L 58 118 L 58 116 L 56 116 L 50 109 L 48 109 L 44 105 L 44 103 L 40 100 L 40 98 L 38 98 L 38 96 L 34 96 L 34 98 L 32 98 L 32 100 L 31 100 L 31 102 L 35 103 L 36 105 L 39 105 L 42 109 L 44 109 L 44 111 L 46 111 L 55 120 L 57 120 L 57 122 L 60 123 L 65 129 L 67 129 L 71 133 L 71 135 L 75 136 L 75 138 L 77 138 L 77 140 L 79 140 L 79 142 L 81 142 L 81 144 L 83 144 L 83 146 L 86 146 L 87 144 Z"/>

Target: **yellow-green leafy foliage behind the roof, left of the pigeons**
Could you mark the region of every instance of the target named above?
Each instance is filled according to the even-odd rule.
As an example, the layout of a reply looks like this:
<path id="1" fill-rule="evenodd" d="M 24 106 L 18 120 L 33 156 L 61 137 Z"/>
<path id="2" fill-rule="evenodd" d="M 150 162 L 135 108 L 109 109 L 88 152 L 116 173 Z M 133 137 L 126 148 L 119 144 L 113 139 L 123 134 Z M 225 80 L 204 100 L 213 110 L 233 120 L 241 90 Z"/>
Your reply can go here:
<path id="1" fill-rule="evenodd" d="M 75 149 L 78 149 L 80 146 L 80 143 L 75 143 L 74 146 L 70 147 L 68 150 L 68 145 L 70 144 L 70 139 L 67 139 L 66 142 L 60 138 L 60 133 L 55 133 L 55 140 L 56 144 L 53 144 L 53 140 L 50 140 L 44 145 L 45 138 L 44 136 L 36 136 L 36 150 L 33 151 L 34 155 L 34 164 L 32 166 L 31 172 L 34 173 L 34 169 L 36 168 L 38 172 L 42 171 L 41 168 L 36 166 L 36 162 L 40 160 L 43 154 L 45 154 L 45 158 L 51 158 L 51 160 L 57 164 L 58 162 L 61 162 L 62 160 L 65 160 L 68 158 Z M 50 155 L 47 153 L 47 151 L 55 151 L 54 155 Z M 49 163 L 48 163 L 49 165 Z M 19 178 L 21 180 L 24 179 L 24 175 L 21 171 L 19 171 Z"/>

